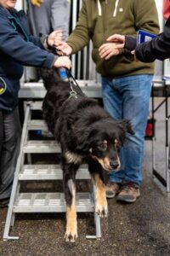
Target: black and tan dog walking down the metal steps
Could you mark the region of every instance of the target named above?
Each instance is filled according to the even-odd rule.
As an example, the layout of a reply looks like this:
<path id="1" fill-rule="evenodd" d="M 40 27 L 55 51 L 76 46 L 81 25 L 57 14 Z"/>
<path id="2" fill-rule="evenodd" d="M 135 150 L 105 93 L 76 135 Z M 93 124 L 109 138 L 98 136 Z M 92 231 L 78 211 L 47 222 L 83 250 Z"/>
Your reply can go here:
<path id="1" fill-rule="evenodd" d="M 112 119 L 97 101 L 83 96 L 77 86 L 73 86 L 77 96 L 70 96 L 71 85 L 59 79 L 53 70 L 42 70 L 42 79 L 47 89 L 42 104 L 43 118 L 61 146 L 66 201 L 65 240 L 75 241 L 75 177 L 79 166 L 84 160 L 88 163 L 96 186 L 95 212 L 106 217 L 106 172 L 119 169 L 118 151 L 125 142 L 126 132 L 133 134 L 133 130 L 127 120 Z"/>

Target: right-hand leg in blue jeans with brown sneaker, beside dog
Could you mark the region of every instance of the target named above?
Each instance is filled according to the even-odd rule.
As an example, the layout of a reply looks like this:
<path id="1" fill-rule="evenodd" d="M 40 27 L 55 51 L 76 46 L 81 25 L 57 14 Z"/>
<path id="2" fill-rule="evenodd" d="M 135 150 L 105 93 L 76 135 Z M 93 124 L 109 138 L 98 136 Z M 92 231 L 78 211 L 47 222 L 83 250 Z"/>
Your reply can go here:
<path id="1" fill-rule="evenodd" d="M 118 201 L 133 202 L 139 197 L 144 157 L 144 135 L 150 104 L 152 75 L 136 75 L 119 79 L 122 90 L 123 119 L 129 119 L 134 135 L 127 135 L 122 148 L 124 188 L 117 196 Z"/>

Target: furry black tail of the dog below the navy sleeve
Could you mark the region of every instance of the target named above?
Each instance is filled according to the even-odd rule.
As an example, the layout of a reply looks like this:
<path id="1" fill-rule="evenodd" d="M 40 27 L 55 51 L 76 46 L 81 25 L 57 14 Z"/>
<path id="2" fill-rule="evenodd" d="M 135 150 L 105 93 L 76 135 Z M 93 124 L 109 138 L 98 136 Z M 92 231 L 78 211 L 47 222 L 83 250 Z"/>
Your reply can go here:
<path id="1" fill-rule="evenodd" d="M 49 90 L 53 84 L 59 83 L 61 80 L 59 78 L 59 69 L 58 68 L 40 68 L 40 76 L 44 82 L 44 87 L 46 90 Z"/>

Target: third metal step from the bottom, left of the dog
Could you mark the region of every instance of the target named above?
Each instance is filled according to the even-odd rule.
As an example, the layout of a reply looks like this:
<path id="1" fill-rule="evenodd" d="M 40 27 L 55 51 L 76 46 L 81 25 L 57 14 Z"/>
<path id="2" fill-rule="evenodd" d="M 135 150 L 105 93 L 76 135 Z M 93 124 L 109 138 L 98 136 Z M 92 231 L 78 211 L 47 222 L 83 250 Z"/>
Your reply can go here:
<path id="1" fill-rule="evenodd" d="M 53 141 L 27 141 L 23 153 L 60 153 L 59 143 Z"/>

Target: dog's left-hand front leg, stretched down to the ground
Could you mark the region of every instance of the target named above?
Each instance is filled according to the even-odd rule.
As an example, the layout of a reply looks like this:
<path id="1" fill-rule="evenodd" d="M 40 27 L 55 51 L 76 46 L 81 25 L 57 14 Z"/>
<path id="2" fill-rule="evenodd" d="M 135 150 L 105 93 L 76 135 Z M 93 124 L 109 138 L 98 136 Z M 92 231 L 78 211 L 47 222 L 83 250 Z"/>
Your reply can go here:
<path id="1" fill-rule="evenodd" d="M 76 211 L 76 184 L 77 168 L 74 164 L 63 166 L 64 189 L 66 201 L 66 231 L 65 241 L 77 239 L 77 211 Z"/>

